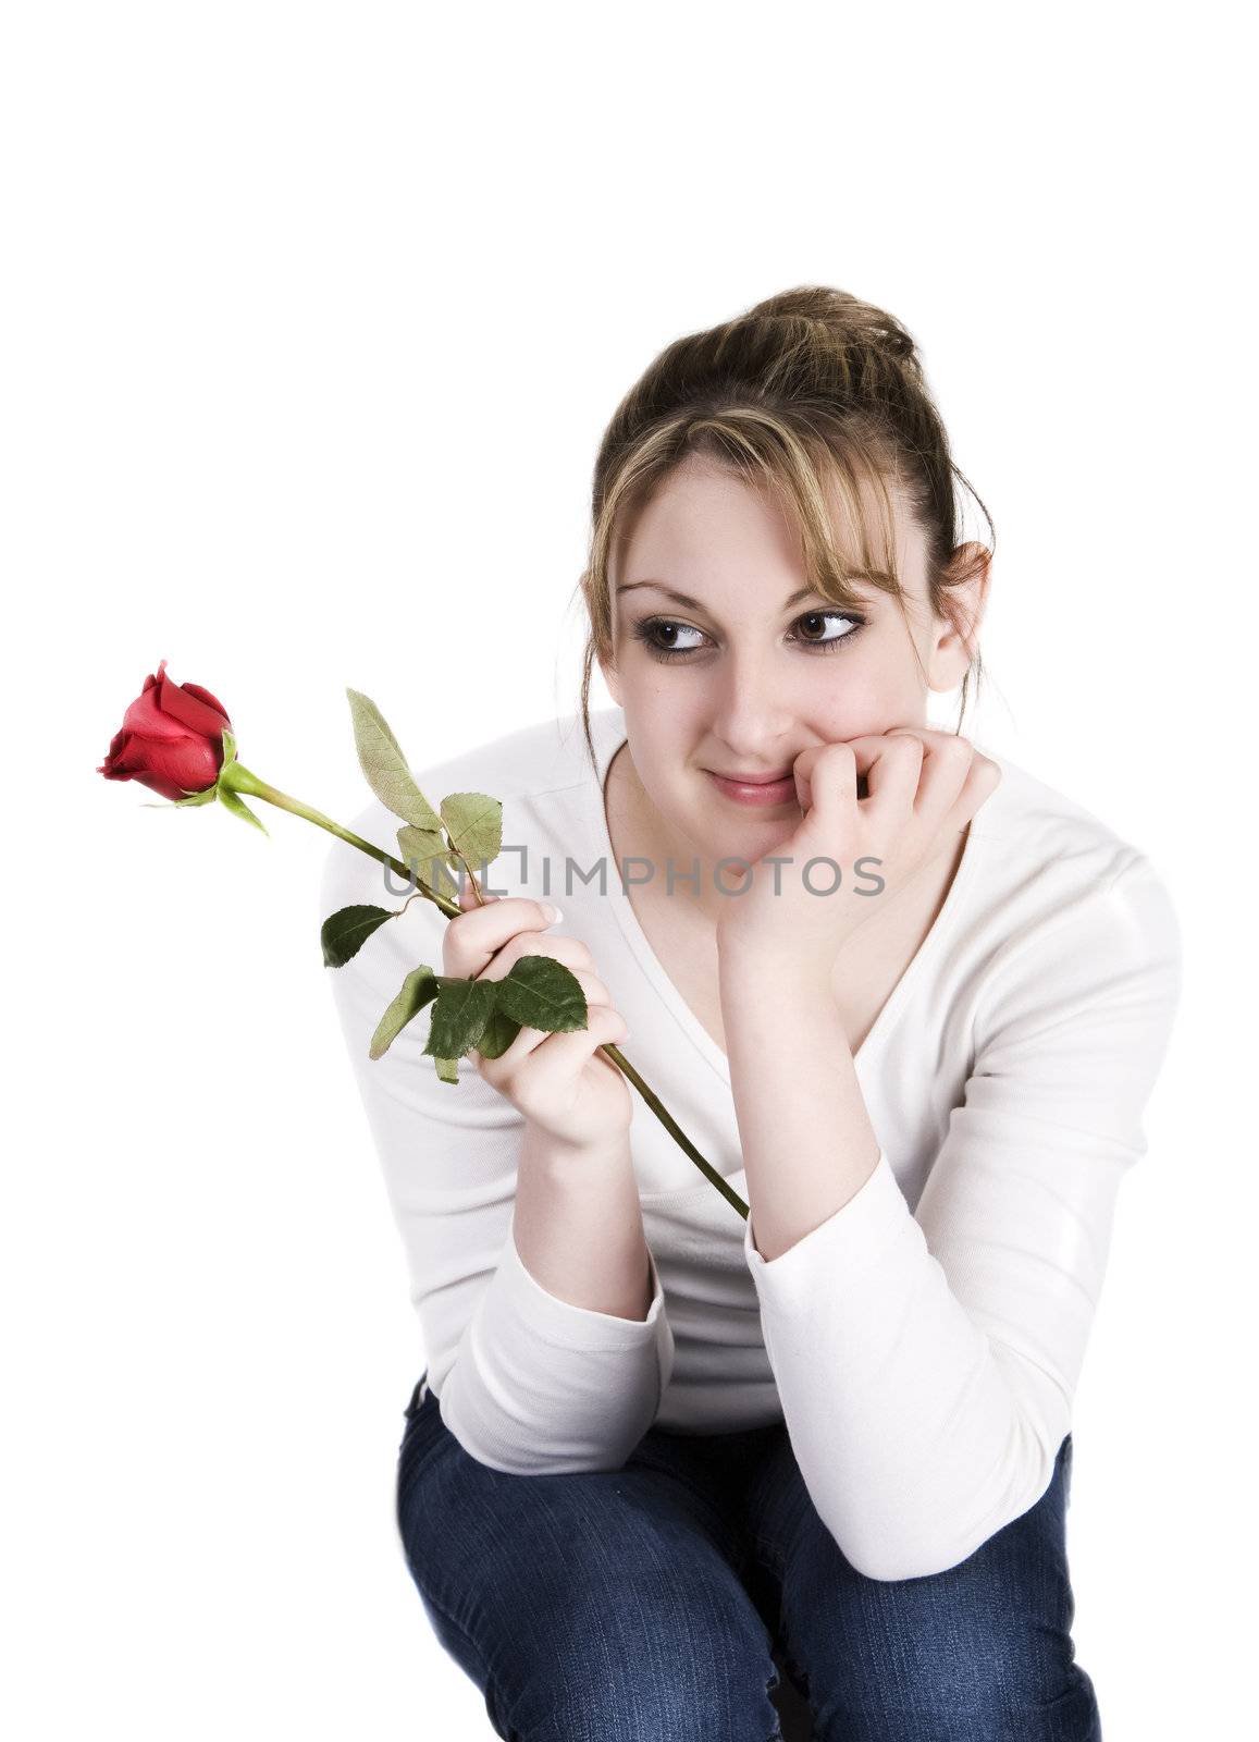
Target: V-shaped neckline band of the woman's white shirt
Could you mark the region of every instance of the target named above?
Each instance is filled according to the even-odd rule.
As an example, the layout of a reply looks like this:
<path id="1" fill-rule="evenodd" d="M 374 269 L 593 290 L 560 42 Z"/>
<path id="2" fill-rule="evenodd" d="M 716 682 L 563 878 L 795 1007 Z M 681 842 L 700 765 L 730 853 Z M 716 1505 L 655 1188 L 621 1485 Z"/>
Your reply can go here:
<path id="1" fill-rule="evenodd" d="M 611 843 L 611 831 L 608 827 L 604 784 L 608 780 L 608 770 L 611 766 L 613 756 L 622 747 L 622 744 L 627 742 L 629 737 L 625 732 L 625 711 L 622 707 L 604 707 L 599 709 L 597 712 L 592 712 L 590 737 L 594 739 L 594 747 L 596 747 L 597 777 L 596 779 L 590 777 L 587 765 L 585 786 L 582 789 L 583 820 L 587 826 L 590 845 L 603 857 L 606 866 L 608 899 L 611 902 L 613 913 L 616 915 L 616 923 L 622 928 L 625 942 L 637 958 L 639 967 L 655 986 L 662 1003 L 670 1010 L 681 1031 L 690 1038 L 695 1050 L 700 1054 L 700 1057 L 707 1061 L 707 1064 L 716 1071 L 721 1082 L 726 1087 L 731 1087 L 730 1057 L 716 1043 L 712 1035 L 707 1031 L 704 1023 L 700 1023 L 700 1019 L 695 1016 L 695 1012 L 691 1010 L 691 1007 L 688 1005 L 688 1002 L 683 998 L 681 991 L 670 979 L 660 956 L 651 948 L 651 942 L 646 932 L 643 930 L 639 918 L 634 913 L 630 899 L 625 894 L 625 887 L 622 883 L 620 861 L 616 859 L 616 852 Z M 993 751 L 982 749 L 982 746 L 979 744 L 975 746 L 975 749 L 979 749 L 980 754 L 989 756 L 994 763 L 1001 765 L 1001 758 L 996 756 Z M 1001 770 L 1001 773 L 1003 773 L 1001 786 L 1005 786 L 1005 768 Z M 953 916 L 959 909 L 961 897 L 975 873 L 975 864 L 979 859 L 977 840 L 979 836 L 984 834 L 984 826 L 982 826 L 984 812 L 994 803 L 996 796 L 1001 791 L 1001 786 L 998 786 L 996 793 L 989 794 L 984 805 L 975 812 L 975 817 L 972 819 L 970 827 L 966 831 L 966 843 L 961 850 L 961 861 L 953 874 L 953 881 L 949 883 L 940 911 L 935 915 L 932 928 L 914 951 L 904 974 L 892 988 L 892 993 L 885 1000 L 883 1009 L 874 1017 L 871 1031 L 865 1035 L 862 1043 L 853 1052 L 855 1068 L 860 1070 L 862 1063 L 886 1043 L 888 1035 L 895 1028 L 900 1012 L 904 1010 L 906 1003 L 909 1002 L 909 996 L 912 995 L 914 982 L 918 981 L 923 970 L 925 960 L 939 948 L 942 935 L 953 925 Z"/>

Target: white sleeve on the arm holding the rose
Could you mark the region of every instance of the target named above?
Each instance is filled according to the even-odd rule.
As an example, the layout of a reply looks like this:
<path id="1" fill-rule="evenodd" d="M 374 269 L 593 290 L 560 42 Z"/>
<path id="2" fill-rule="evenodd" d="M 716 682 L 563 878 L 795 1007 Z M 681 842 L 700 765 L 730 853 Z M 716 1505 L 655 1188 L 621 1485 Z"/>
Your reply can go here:
<path id="1" fill-rule="evenodd" d="M 388 847 L 397 819 L 373 807 L 352 827 Z M 347 843 L 333 847 L 320 925 L 338 908 L 399 909 L 404 901 L 388 892 L 380 864 Z M 326 969 L 407 1254 L 428 1387 L 446 1427 L 489 1469 L 615 1470 L 651 1427 L 674 1362 L 655 1258 L 644 1320 L 550 1294 L 515 1249 L 522 1115 L 467 1057 L 458 1084 L 437 1077 L 423 1050 L 428 1009 L 380 1059 L 367 1054 L 406 976 L 421 962 L 442 972 L 446 925 L 421 895 L 345 967 Z"/>

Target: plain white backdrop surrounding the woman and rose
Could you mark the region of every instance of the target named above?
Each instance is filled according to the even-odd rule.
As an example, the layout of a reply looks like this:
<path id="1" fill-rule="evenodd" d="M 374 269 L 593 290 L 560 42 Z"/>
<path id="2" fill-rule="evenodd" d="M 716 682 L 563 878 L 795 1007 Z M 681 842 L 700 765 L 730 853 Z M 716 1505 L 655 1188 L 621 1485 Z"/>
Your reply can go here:
<path id="1" fill-rule="evenodd" d="M 416 766 L 573 709 L 611 411 L 665 343 L 805 282 L 909 326 L 996 521 L 966 735 L 1177 902 L 1184 1002 L 1076 1399 L 1074 1639 L 1108 1742 L 1250 1711 L 1238 24 L 7 12 L 10 1733 L 491 1733 L 395 1536 L 423 1350 L 320 965 L 326 836 L 96 766 L 160 658 L 345 820 L 347 685 Z"/>

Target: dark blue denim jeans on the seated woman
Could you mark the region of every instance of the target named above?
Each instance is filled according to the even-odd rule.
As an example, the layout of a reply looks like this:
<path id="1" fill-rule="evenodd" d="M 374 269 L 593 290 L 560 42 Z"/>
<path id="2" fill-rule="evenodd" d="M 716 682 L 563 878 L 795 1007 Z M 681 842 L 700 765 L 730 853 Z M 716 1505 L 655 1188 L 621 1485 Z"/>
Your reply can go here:
<path id="1" fill-rule="evenodd" d="M 406 1563 L 508 1742 L 773 1742 L 775 1644 L 818 1742 L 1099 1742 L 1071 1641 L 1069 1434 L 1041 1500 L 959 1566 L 872 1580 L 784 1423 L 653 1427 L 620 1470 L 505 1475 L 421 1385 L 397 1462 Z"/>

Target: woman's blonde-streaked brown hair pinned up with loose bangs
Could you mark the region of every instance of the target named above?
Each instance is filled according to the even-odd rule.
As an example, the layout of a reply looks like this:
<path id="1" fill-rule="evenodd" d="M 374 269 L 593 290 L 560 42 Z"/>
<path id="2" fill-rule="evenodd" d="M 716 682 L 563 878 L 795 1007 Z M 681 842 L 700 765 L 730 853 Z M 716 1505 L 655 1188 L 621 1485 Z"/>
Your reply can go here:
<path id="1" fill-rule="evenodd" d="M 582 725 L 592 765 L 590 672 L 596 658 L 611 664 L 611 564 L 663 479 L 695 455 L 716 460 L 782 505 L 799 530 L 810 584 L 843 610 L 860 606 L 848 582 L 860 575 L 906 611 L 888 479 L 906 491 L 926 537 L 932 611 L 963 632 L 968 625 L 959 624 L 954 591 L 993 556 L 986 547 L 959 547 L 954 481 L 975 502 L 979 495 L 953 463 L 914 340 L 895 315 L 848 291 L 806 284 L 674 340 L 622 399 L 594 467 L 589 561 L 578 584 L 589 615 Z M 836 545 L 827 484 L 838 486 L 845 517 L 858 533 L 855 566 Z M 864 486 L 881 507 L 878 552 L 862 512 Z M 984 519 L 993 533 L 987 509 Z M 979 646 L 961 683 L 956 732 L 972 671 L 979 685 Z"/>

